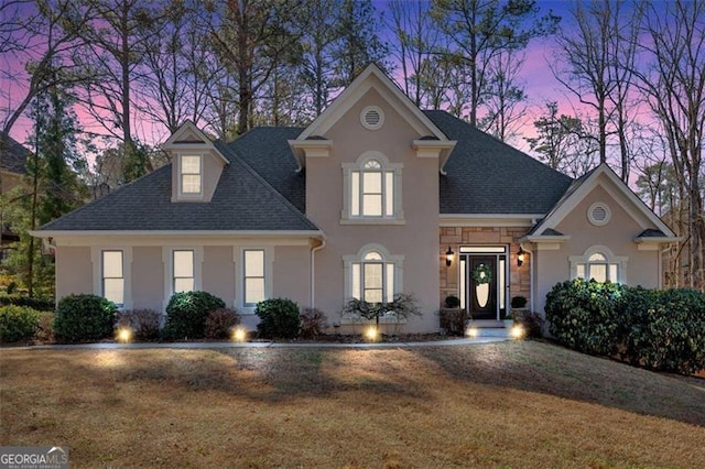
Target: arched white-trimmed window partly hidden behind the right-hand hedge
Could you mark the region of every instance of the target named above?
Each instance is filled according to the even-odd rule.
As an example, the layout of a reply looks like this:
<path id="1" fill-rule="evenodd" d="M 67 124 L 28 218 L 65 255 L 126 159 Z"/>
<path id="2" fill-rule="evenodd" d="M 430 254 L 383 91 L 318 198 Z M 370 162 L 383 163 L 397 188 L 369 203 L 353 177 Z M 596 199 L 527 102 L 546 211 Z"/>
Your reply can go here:
<path id="1" fill-rule="evenodd" d="M 595 280 L 596 282 L 626 283 L 629 258 L 615 255 L 605 246 L 588 248 L 583 255 L 572 255 L 571 277 Z"/>

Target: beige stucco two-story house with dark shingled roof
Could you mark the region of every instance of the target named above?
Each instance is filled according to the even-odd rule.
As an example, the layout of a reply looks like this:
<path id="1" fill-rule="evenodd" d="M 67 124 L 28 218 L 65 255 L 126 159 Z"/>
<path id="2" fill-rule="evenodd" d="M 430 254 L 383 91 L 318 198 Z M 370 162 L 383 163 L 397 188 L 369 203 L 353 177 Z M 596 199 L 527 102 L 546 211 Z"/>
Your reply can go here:
<path id="1" fill-rule="evenodd" d="M 57 297 L 164 310 L 204 290 L 250 327 L 259 301 L 288 297 L 345 332 L 346 301 L 403 292 L 424 313 L 404 330 L 436 331 L 447 295 L 498 319 L 575 276 L 657 287 L 674 239 L 607 166 L 573 181 L 420 110 L 375 65 L 305 129 L 227 143 L 185 123 L 163 148 L 171 165 L 34 233 L 55 246 Z"/>

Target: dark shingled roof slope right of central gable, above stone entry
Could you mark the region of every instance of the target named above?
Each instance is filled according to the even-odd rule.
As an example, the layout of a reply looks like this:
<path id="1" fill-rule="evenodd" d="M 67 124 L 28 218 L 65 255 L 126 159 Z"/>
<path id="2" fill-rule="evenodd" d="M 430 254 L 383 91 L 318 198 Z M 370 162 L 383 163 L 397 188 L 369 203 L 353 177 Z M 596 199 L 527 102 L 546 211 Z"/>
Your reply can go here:
<path id="1" fill-rule="evenodd" d="M 441 214 L 546 214 L 573 181 L 445 111 L 425 114 L 457 141 L 441 176 Z"/>

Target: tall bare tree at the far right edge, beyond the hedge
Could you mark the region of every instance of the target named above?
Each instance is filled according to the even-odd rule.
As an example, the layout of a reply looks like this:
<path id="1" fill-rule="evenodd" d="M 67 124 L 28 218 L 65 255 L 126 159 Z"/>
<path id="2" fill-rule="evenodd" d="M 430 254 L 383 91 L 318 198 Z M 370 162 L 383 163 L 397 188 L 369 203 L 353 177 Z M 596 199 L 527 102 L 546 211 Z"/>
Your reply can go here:
<path id="1" fill-rule="evenodd" d="M 644 21 L 651 57 L 639 86 L 661 124 L 685 209 L 687 268 L 684 284 L 705 288 L 703 131 L 705 126 L 705 3 L 650 3 Z"/>

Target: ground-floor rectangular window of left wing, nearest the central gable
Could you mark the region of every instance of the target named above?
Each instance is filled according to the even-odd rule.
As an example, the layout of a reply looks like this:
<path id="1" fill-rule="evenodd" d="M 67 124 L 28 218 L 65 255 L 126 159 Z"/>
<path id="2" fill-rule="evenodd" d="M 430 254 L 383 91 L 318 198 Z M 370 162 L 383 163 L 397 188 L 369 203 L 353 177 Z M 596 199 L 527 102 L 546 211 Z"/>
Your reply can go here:
<path id="1" fill-rule="evenodd" d="M 232 249 L 236 265 L 235 307 L 241 314 L 254 314 L 257 304 L 272 297 L 274 248 L 238 246 Z"/>

